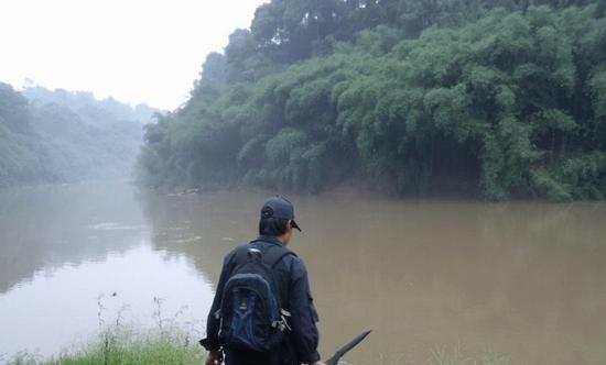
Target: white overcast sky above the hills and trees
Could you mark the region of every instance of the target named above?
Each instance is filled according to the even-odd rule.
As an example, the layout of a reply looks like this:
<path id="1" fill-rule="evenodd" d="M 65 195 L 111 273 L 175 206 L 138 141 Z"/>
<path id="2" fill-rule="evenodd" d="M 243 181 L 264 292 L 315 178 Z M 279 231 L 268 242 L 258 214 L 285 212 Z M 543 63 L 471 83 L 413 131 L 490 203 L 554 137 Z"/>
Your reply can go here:
<path id="1" fill-rule="evenodd" d="M 0 81 L 175 109 L 267 0 L 0 0 Z"/>

